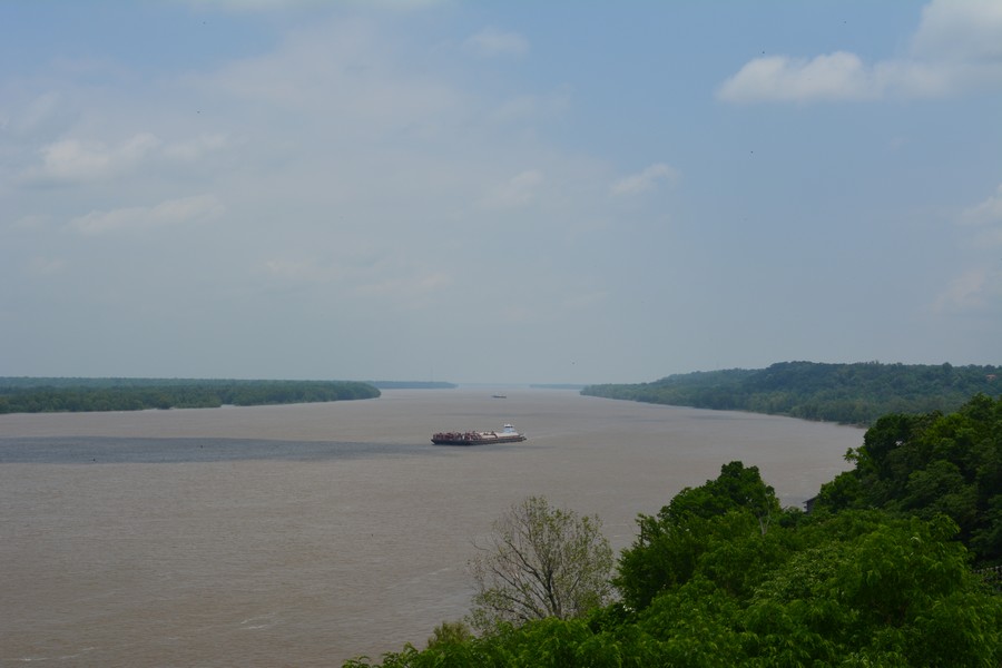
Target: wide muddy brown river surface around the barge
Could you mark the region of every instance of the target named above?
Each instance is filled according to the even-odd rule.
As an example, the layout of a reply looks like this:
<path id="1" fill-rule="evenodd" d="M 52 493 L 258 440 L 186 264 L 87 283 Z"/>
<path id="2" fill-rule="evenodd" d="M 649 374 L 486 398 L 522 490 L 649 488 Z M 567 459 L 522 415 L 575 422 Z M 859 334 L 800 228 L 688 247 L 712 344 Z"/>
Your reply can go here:
<path id="1" fill-rule="evenodd" d="M 546 494 L 637 513 L 740 460 L 786 505 L 858 429 L 580 396 L 396 390 L 283 406 L 0 415 L 0 666 L 340 666 L 469 610 L 473 541 Z M 529 441 L 435 446 L 446 430 Z"/>

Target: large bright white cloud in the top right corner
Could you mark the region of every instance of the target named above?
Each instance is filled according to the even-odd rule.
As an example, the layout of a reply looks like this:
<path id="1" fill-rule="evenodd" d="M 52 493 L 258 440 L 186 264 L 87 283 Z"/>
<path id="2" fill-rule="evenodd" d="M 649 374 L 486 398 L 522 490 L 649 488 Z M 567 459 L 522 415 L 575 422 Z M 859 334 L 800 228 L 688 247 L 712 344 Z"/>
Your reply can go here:
<path id="1" fill-rule="evenodd" d="M 1002 2 L 935 0 L 922 12 L 910 53 L 865 63 L 835 51 L 814 58 L 755 58 L 717 89 L 727 102 L 944 97 L 1002 87 Z"/>

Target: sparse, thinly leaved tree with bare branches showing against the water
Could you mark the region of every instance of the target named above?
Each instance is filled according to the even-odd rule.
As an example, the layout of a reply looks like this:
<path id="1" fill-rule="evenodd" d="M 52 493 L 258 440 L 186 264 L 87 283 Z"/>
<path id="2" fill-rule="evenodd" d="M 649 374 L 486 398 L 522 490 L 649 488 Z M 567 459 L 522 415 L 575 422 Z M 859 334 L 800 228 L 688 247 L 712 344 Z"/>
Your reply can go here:
<path id="1" fill-rule="evenodd" d="M 580 617 L 611 593 L 612 549 L 597 515 L 551 508 L 543 497 L 512 505 L 469 566 L 477 584 L 471 620 L 499 623 Z"/>

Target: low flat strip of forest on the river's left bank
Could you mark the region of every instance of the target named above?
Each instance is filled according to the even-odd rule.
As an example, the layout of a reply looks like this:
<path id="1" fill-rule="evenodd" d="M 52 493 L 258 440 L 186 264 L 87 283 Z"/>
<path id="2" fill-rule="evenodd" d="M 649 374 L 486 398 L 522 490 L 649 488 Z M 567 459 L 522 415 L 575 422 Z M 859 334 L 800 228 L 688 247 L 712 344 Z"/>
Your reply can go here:
<path id="1" fill-rule="evenodd" d="M 372 385 L 351 381 L 0 379 L 0 413 L 207 409 L 379 395 Z"/>

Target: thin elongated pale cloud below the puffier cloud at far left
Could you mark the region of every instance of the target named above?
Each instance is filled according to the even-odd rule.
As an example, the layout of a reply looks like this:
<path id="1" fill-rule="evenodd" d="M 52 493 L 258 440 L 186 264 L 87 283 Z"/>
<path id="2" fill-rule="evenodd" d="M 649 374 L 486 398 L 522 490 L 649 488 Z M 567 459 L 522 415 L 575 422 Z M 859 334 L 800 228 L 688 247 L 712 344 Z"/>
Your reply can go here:
<path id="1" fill-rule="evenodd" d="M 95 235 L 125 229 L 149 229 L 210 220 L 223 214 L 224 207 L 212 195 L 169 199 L 151 207 L 129 207 L 110 212 L 91 212 L 70 220 L 70 227 L 81 234 Z"/>

